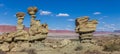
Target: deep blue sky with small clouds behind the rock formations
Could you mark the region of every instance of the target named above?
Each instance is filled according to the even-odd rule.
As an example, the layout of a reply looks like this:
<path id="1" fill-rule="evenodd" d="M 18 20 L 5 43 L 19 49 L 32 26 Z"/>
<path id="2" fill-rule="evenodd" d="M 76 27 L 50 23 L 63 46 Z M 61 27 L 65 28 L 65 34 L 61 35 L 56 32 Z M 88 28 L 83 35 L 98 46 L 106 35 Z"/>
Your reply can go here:
<path id="1" fill-rule="evenodd" d="M 24 25 L 29 27 L 27 8 L 38 7 L 37 18 L 49 29 L 74 30 L 77 17 L 97 19 L 98 31 L 120 29 L 120 0 L 0 0 L 0 25 L 16 25 L 17 12 L 26 13 Z"/>

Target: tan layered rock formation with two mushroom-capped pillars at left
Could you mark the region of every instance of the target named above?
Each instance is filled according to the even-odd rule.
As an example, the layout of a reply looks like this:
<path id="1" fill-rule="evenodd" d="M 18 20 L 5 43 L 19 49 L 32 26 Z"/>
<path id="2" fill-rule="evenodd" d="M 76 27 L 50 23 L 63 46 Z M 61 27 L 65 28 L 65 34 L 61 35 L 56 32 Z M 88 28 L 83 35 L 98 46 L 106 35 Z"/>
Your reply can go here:
<path id="1" fill-rule="evenodd" d="M 40 24 L 40 20 L 35 20 L 37 7 L 28 8 L 28 14 L 31 16 L 31 24 L 29 31 L 24 30 L 23 20 L 25 14 L 23 12 L 18 12 L 17 16 L 17 26 L 15 32 L 3 33 L 0 35 L 0 50 L 2 51 L 15 51 L 24 49 L 23 46 L 18 46 L 24 42 L 34 42 L 37 40 L 43 40 L 48 34 L 48 25 Z M 24 45 L 27 46 L 27 45 Z"/>

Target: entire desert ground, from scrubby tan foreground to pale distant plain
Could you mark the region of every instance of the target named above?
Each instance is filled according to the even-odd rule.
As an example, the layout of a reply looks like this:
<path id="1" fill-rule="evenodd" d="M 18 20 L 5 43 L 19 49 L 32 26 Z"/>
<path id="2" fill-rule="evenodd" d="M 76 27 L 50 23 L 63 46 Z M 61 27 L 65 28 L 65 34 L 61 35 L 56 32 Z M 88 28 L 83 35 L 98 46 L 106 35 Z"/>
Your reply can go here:
<path id="1" fill-rule="evenodd" d="M 117 35 L 116 35 L 117 34 Z M 93 42 L 80 43 L 76 33 L 49 33 L 47 39 L 23 42 L 22 48 L 0 54 L 120 54 L 120 35 L 94 34 Z"/>

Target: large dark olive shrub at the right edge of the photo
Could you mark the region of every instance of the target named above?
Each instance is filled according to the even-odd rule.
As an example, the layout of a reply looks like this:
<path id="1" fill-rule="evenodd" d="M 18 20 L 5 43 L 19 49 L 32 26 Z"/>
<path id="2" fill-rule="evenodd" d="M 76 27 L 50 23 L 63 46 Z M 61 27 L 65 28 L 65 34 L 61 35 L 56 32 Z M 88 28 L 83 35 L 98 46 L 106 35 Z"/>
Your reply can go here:
<path id="1" fill-rule="evenodd" d="M 103 47 L 104 51 L 120 51 L 120 39 L 110 40 Z"/>

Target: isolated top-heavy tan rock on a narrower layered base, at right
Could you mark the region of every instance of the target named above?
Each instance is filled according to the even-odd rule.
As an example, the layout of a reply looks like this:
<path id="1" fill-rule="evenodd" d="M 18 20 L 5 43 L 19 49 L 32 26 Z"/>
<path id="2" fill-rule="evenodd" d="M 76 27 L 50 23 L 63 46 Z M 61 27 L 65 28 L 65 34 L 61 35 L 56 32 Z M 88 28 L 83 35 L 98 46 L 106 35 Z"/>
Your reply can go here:
<path id="1" fill-rule="evenodd" d="M 75 32 L 79 34 L 81 42 L 91 42 L 93 32 L 96 30 L 97 20 L 89 21 L 89 17 L 80 17 L 75 21 Z"/>

